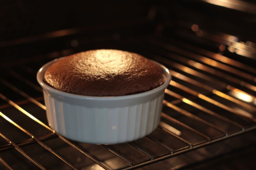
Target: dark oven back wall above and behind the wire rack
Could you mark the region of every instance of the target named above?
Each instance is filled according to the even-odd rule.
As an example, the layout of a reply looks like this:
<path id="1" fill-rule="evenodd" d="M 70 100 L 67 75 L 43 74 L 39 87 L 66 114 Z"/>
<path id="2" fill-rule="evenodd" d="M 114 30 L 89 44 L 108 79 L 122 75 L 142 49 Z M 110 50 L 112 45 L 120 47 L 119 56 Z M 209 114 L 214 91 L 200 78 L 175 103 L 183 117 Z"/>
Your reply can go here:
<path id="1" fill-rule="evenodd" d="M 239 2 L 6 1 L 1 4 L 1 58 L 8 60 L 72 48 L 77 44 L 72 40 L 79 38 L 83 46 L 85 39 L 86 43 L 93 43 L 99 41 L 96 37 L 107 35 L 112 37 L 106 41 L 119 40 L 121 35 L 122 39 L 130 40 L 148 33 L 188 39 L 186 29 L 191 29 L 193 24 L 193 29 L 200 26 L 199 32 L 208 30 L 219 36 L 225 33 L 244 43 L 255 42 L 255 5 L 249 1 Z M 163 24 L 168 28 L 163 29 Z M 106 44 L 86 46 L 80 50 L 111 48 Z"/>

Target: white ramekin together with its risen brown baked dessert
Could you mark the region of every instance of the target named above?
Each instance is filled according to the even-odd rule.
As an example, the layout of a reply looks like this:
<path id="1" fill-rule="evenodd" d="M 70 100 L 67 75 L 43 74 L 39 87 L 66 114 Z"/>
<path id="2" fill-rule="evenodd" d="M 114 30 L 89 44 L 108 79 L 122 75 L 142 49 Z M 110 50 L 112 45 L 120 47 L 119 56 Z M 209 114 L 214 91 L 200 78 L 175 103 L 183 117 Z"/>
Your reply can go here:
<path id="1" fill-rule="evenodd" d="M 49 61 L 36 78 L 52 129 L 79 142 L 116 144 L 157 128 L 171 74 L 139 54 L 93 50 Z"/>

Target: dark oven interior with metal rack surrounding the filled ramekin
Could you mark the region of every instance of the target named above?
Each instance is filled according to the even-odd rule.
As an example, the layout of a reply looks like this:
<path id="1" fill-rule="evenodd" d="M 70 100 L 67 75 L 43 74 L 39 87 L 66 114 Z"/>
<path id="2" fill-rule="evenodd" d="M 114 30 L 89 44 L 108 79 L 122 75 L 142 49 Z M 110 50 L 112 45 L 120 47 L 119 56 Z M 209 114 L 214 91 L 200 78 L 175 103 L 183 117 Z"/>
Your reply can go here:
<path id="1" fill-rule="evenodd" d="M 57 2 L 2 4 L 1 169 L 256 166 L 253 1 Z M 95 145 L 48 126 L 38 69 L 99 48 L 136 52 L 170 69 L 161 123 L 148 136 Z"/>

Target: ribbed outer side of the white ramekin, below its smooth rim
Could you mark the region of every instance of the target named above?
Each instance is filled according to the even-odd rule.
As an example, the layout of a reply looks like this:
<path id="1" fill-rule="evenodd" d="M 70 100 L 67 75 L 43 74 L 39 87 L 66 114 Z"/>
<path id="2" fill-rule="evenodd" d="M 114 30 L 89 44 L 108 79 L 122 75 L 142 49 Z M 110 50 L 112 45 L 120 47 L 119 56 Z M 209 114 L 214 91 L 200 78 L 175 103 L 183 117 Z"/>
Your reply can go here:
<path id="1" fill-rule="evenodd" d="M 97 144 L 132 141 L 151 133 L 160 121 L 163 96 L 127 107 L 89 108 L 44 93 L 48 123 L 55 131 L 72 140 Z"/>

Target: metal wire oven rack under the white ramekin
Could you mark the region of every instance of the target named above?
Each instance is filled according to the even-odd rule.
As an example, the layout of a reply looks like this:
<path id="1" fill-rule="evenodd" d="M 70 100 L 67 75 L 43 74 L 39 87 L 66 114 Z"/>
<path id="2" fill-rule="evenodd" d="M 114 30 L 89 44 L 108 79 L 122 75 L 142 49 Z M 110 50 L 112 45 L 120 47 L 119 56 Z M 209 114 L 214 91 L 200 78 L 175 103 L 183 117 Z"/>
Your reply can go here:
<path id="1" fill-rule="evenodd" d="M 36 145 L 43 148 L 44 152 L 52 154 L 51 157 L 59 159 L 62 169 L 82 168 L 81 165 L 76 166 L 77 160 L 69 160 L 70 157 L 53 145 L 58 141 L 64 143 L 65 148 L 73 150 L 68 154 L 80 157 L 82 154 L 84 160 L 89 162 L 84 168 L 96 165 L 97 168 L 104 169 L 134 169 L 256 129 L 256 106 L 253 96 L 255 68 L 252 66 L 247 69 L 250 66 L 244 66 L 242 62 L 200 49 L 198 46 L 193 48 L 186 42 L 177 43 L 165 36 L 142 36 L 130 47 L 133 51 L 165 64 L 173 76 L 165 94 L 162 121 L 156 131 L 137 141 L 117 145 L 83 144 L 59 135 L 47 125 L 43 114 L 45 106 L 42 90 L 35 80 L 35 68 L 53 58 L 61 57 L 60 54 L 73 51 L 48 53 L 44 57 L 38 57 L 39 61 L 26 60 L 23 64 L 13 64 L 2 69 L 0 122 L 3 126 L 9 124 L 8 127 L 16 129 L 10 134 L 11 132 L 6 131 L 3 126 L 0 128 L 2 166 L 7 169 L 15 169 L 18 165 L 48 169 L 45 158 L 38 158 L 36 153 L 27 150 L 27 147 Z M 243 101 L 244 99 L 247 101 Z M 33 109 L 28 109 L 28 106 Z M 37 126 L 31 128 L 26 125 L 29 122 Z M 44 132 L 41 133 L 41 130 Z M 151 147 L 157 149 L 150 150 Z M 107 156 L 104 158 L 94 155 L 91 148 L 104 150 Z M 125 148 L 125 151 L 120 148 Z M 16 152 L 16 157 L 26 159 L 25 165 L 20 164 L 22 162 L 17 165 L 10 162 L 6 156 L 10 150 Z M 38 154 L 41 154 L 40 152 Z M 138 160 L 131 157 L 137 157 Z"/>

